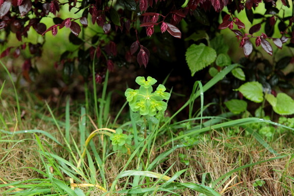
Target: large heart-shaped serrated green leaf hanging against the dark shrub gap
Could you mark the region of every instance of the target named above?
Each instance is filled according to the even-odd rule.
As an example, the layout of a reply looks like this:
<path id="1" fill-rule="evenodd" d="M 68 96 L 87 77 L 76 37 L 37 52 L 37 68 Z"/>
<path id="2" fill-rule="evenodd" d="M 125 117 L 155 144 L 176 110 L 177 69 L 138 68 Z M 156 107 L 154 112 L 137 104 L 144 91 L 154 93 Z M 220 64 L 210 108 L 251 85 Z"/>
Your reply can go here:
<path id="1" fill-rule="evenodd" d="M 217 52 L 204 44 L 193 44 L 186 51 L 186 61 L 192 76 L 213 63 L 217 58 Z"/>

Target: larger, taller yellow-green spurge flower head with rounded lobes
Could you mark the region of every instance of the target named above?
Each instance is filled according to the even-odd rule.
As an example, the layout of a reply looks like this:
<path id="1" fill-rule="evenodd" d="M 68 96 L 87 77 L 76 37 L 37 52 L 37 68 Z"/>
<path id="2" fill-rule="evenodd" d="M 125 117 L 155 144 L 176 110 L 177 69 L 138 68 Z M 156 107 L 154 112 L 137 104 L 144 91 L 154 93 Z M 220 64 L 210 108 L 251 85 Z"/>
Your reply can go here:
<path id="1" fill-rule="evenodd" d="M 127 89 L 124 93 L 126 100 L 133 112 L 139 112 L 142 116 L 155 116 L 157 112 L 164 112 L 167 109 L 167 103 L 163 100 L 169 100 L 171 94 L 166 91 L 164 85 L 159 84 L 156 91 L 153 92 L 152 85 L 157 82 L 156 79 L 148 76 L 138 76 L 136 83 L 140 85 L 139 89 Z"/>

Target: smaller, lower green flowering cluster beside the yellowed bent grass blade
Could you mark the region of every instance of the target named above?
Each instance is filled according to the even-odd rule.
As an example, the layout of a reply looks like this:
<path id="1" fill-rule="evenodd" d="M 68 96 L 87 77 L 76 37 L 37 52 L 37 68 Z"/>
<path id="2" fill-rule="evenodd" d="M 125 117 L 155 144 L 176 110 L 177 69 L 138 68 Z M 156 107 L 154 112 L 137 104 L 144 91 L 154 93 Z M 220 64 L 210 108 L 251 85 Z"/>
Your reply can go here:
<path id="1" fill-rule="evenodd" d="M 123 129 L 116 129 L 116 133 L 110 136 L 111 144 L 113 146 L 113 150 L 120 150 L 125 153 L 128 150 L 127 146 L 130 146 L 132 143 L 132 135 L 123 134 Z"/>

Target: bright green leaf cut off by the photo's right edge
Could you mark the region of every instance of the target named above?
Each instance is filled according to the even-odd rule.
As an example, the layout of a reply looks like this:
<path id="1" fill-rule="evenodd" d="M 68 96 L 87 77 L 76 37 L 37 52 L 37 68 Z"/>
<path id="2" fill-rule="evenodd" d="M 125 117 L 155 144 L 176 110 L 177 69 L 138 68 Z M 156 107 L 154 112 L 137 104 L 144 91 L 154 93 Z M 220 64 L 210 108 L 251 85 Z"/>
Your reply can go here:
<path id="1" fill-rule="evenodd" d="M 267 94 L 266 99 L 275 113 L 279 115 L 294 114 L 294 100 L 287 94 L 278 93 L 276 98 L 271 94 Z"/>

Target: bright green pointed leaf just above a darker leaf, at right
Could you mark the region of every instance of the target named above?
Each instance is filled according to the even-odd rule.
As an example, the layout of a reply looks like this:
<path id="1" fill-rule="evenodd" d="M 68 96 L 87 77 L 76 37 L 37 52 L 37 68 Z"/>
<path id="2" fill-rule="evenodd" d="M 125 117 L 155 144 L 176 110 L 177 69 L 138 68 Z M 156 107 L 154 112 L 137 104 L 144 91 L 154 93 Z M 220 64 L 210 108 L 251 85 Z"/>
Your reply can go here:
<path id="1" fill-rule="evenodd" d="M 263 101 L 262 85 L 259 82 L 246 82 L 237 89 L 245 98 L 260 103 Z"/>

